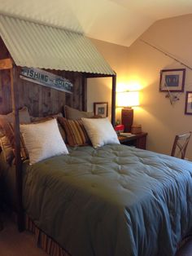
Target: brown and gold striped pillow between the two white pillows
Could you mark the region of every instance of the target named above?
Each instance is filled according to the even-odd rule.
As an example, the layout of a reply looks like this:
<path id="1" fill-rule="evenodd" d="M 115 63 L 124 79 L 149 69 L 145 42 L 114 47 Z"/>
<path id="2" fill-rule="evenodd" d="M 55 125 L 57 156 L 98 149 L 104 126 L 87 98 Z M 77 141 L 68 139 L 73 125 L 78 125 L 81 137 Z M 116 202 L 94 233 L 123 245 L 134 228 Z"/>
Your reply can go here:
<path id="1" fill-rule="evenodd" d="M 67 120 L 64 117 L 58 117 L 58 121 L 66 131 L 70 146 L 85 146 L 90 143 L 82 120 Z"/>

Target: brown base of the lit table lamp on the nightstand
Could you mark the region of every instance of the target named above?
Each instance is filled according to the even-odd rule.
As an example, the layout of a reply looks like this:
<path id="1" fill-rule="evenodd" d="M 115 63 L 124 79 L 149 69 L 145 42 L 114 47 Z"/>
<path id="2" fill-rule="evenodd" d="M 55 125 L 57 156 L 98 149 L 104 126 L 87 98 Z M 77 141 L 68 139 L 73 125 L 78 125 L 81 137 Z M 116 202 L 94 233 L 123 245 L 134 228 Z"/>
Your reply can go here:
<path id="1" fill-rule="evenodd" d="M 121 122 L 124 125 L 124 132 L 130 132 L 133 125 L 133 108 L 122 108 Z"/>

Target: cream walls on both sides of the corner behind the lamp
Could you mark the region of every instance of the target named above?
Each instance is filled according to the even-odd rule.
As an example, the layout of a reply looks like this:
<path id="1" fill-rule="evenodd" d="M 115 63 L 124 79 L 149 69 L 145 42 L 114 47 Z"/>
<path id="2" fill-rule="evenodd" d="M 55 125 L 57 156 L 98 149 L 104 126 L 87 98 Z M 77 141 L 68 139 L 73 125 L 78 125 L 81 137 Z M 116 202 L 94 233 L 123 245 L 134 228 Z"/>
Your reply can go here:
<path id="1" fill-rule="evenodd" d="M 171 105 L 165 93 L 159 92 L 159 72 L 166 68 L 185 68 L 151 46 L 144 39 L 192 67 L 192 15 L 184 15 L 153 24 L 129 48 L 93 40 L 117 73 L 117 84 L 140 89 L 139 108 L 134 109 L 134 122 L 148 132 L 147 149 L 169 154 L 174 136 L 192 130 L 192 116 L 185 115 L 185 93 Z M 108 79 L 108 78 L 107 78 Z M 111 83 L 89 82 L 88 108 L 94 101 L 111 102 Z M 185 91 L 192 90 L 192 70 L 186 68 Z M 120 110 L 116 113 L 120 118 Z M 192 160 L 192 139 L 186 157 Z"/>

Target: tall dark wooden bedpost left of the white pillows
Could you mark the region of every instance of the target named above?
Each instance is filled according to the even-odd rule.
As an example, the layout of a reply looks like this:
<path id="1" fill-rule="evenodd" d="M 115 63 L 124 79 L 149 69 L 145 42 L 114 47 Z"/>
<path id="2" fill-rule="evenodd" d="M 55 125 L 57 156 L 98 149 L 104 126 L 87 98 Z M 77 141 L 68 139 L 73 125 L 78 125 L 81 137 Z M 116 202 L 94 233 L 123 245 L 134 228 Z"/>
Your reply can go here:
<path id="1" fill-rule="evenodd" d="M 10 69 L 11 72 L 11 99 L 12 110 L 14 113 L 14 134 L 15 134 L 15 180 L 16 180 L 16 200 L 17 200 L 17 224 L 20 232 L 24 231 L 24 212 L 22 203 L 22 161 L 20 157 L 20 117 L 19 117 L 19 95 L 16 81 L 19 79 L 15 70 L 15 65 Z"/>

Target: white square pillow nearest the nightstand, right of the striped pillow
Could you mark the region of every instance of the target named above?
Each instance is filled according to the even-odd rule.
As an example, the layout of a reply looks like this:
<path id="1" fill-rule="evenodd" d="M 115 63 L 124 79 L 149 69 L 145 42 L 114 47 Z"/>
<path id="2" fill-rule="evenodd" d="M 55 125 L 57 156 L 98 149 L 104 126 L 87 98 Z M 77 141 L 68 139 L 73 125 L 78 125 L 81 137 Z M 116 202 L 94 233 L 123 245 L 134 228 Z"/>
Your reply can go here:
<path id="1" fill-rule="evenodd" d="M 81 120 L 94 148 L 108 143 L 120 143 L 108 118 L 81 118 Z"/>

